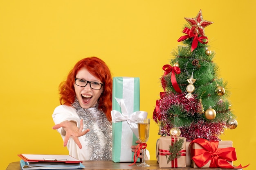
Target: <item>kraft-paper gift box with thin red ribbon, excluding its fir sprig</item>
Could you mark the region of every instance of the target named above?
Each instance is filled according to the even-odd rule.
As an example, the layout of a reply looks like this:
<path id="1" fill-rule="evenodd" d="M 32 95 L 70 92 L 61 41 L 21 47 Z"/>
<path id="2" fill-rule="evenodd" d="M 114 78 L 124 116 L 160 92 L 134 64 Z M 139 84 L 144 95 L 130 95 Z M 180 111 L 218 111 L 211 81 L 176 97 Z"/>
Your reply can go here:
<path id="1" fill-rule="evenodd" d="M 169 146 L 172 145 L 172 142 L 175 142 L 175 140 L 183 138 L 183 148 L 180 151 L 181 156 L 178 158 L 175 158 L 173 161 L 167 162 L 166 154 L 167 156 L 170 155 L 169 152 Z M 177 139 L 174 140 L 171 136 L 161 136 L 160 139 L 157 140 L 157 146 L 156 146 L 156 156 L 157 161 L 159 163 L 159 168 L 185 168 L 186 167 L 186 138 L 184 137 L 177 137 Z"/>

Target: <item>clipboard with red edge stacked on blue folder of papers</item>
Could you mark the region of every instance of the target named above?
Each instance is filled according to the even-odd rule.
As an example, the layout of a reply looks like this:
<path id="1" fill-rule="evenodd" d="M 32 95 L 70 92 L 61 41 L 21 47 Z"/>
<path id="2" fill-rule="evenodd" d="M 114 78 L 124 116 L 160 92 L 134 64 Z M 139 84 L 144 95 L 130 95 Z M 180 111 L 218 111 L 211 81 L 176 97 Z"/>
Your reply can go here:
<path id="1" fill-rule="evenodd" d="M 73 170 L 85 168 L 82 162 L 70 155 L 20 154 L 22 170 Z"/>

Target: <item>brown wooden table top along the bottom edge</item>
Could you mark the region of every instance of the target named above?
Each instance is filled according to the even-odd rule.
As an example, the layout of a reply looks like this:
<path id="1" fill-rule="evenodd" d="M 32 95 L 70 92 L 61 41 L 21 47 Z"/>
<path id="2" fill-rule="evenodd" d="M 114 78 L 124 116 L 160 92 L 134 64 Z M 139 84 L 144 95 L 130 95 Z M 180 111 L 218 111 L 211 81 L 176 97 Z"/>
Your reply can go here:
<path id="1" fill-rule="evenodd" d="M 113 161 L 83 161 L 85 168 L 83 170 L 231 170 L 223 168 L 159 168 L 157 161 L 146 161 L 150 167 L 138 167 L 135 165 L 129 166 L 131 163 L 114 163 Z M 6 170 L 21 170 L 20 162 L 12 162 Z M 242 169 L 232 169 L 242 170 Z"/>

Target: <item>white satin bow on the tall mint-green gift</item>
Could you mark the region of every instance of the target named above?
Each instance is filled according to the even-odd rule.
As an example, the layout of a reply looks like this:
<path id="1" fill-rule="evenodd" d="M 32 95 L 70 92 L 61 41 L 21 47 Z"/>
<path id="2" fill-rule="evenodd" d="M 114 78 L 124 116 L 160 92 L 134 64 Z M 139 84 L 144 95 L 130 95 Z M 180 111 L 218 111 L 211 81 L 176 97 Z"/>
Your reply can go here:
<path id="1" fill-rule="evenodd" d="M 121 112 L 117 110 L 111 111 L 112 116 L 112 122 L 123 122 L 127 121 L 127 123 L 130 126 L 130 129 L 135 134 L 135 136 L 139 139 L 139 133 L 138 133 L 138 119 L 146 119 L 148 116 L 148 112 L 146 111 L 135 111 L 130 116 L 128 114 L 128 111 L 126 109 L 126 105 L 124 103 L 124 99 L 122 98 L 115 98 L 117 100 L 117 103 L 121 107 Z"/>

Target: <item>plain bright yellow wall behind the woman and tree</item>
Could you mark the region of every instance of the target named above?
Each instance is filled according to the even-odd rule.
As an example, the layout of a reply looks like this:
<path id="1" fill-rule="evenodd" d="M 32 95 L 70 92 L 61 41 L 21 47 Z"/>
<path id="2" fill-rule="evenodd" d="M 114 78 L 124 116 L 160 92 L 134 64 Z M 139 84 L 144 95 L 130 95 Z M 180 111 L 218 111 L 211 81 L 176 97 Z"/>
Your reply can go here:
<path id="1" fill-rule="evenodd" d="M 227 129 L 238 160 L 256 153 L 255 16 L 253 0 L 1 0 L 0 169 L 17 154 L 67 154 L 54 130 L 58 85 L 84 57 L 106 61 L 113 76 L 140 78 L 141 110 L 152 118 L 162 92 L 159 78 L 184 35 L 184 17 L 202 9 L 219 77 L 228 82 L 238 127 Z M 150 125 L 148 149 L 155 160 L 158 126 Z"/>

